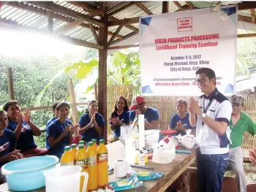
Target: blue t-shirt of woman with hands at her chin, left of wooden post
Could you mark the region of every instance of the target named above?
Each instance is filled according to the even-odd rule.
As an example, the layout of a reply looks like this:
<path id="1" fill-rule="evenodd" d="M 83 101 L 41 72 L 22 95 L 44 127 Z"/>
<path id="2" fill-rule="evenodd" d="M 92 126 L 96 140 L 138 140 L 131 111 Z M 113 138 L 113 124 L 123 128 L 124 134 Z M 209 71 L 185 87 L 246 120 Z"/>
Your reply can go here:
<path id="1" fill-rule="evenodd" d="M 103 116 L 100 115 L 99 113 L 96 113 L 95 120 L 98 126 L 102 128 L 104 125 Z M 80 117 L 80 120 L 79 120 L 80 128 L 87 126 L 90 122 L 91 122 L 90 115 L 89 113 L 86 112 Z M 85 131 L 82 134 L 82 139 L 85 142 L 91 142 L 91 139 L 97 139 L 97 144 L 99 145 L 99 139 L 102 139 L 102 135 L 99 135 L 96 129 L 93 127 L 93 128 L 89 128 L 87 131 Z"/>

